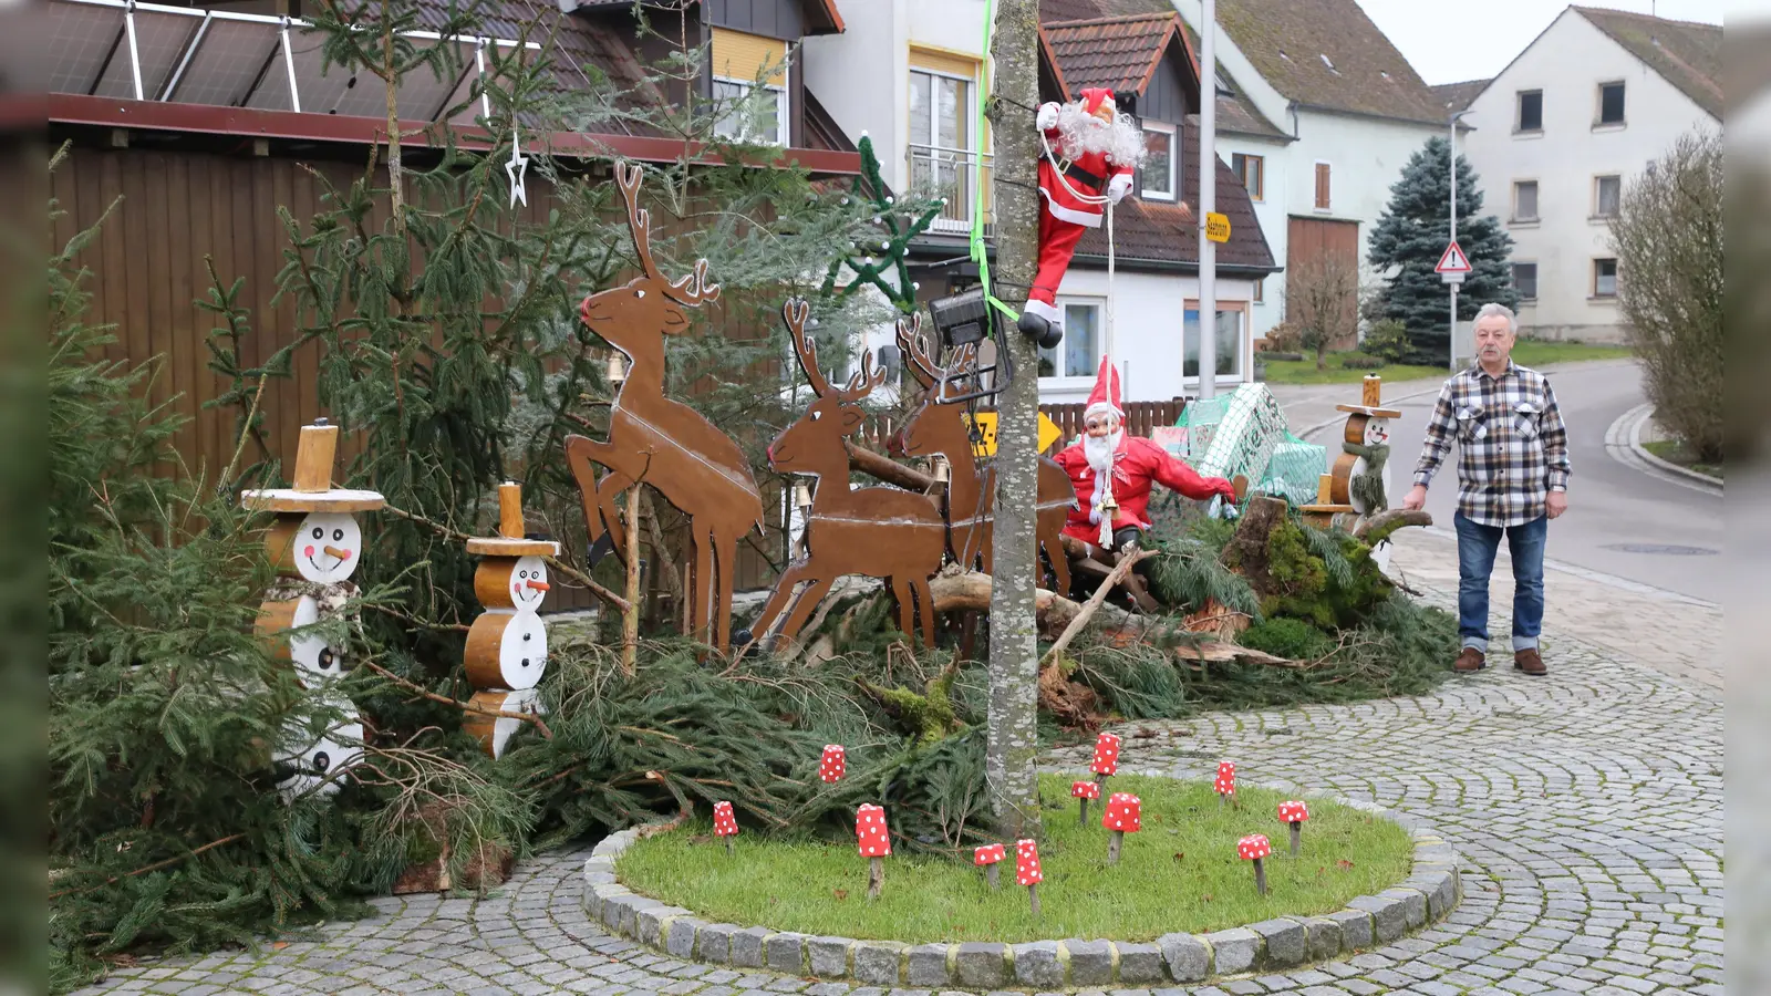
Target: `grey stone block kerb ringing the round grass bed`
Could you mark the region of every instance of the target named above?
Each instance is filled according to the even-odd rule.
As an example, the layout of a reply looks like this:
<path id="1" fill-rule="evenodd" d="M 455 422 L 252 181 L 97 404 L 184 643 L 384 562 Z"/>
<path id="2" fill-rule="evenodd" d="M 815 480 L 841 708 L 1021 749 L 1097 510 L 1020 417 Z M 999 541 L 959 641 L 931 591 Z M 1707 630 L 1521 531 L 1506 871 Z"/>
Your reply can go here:
<path id="1" fill-rule="evenodd" d="M 1079 774 L 1086 767 L 1075 769 Z M 1378 895 L 1362 895 L 1328 916 L 1284 916 L 1211 934 L 1164 934 L 1155 943 L 1084 941 L 1080 938 L 1006 943 L 910 945 L 857 941 L 854 938 L 774 932 L 739 923 L 710 923 L 680 906 L 668 906 L 623 886 L 615 861 L 639 838 L 638 829 L 606 836 L 584 861 L 584 911 L 604 930 L 639 941 L 653 953 L 726 968 L 749 966 L 730 938 L 754 932 L 770 969 L 808 978 L 852 980 L 896 989 L 1027 991 L 1091 987 L 1164 987 L 1171 982 L 1208 982 L 1256 968 L 1289 969 L 1307 962 L 1358 953 L 1376 941 L 1438 923 L 1456 909 L 1458 852 L 1415 817 L 1392 813 L 1374 803 L 1298 785 L 1268 782 L 1263 787 L 1344 806 L 1410 824 L 1415 842 L 1411 874 Z M 698 939 L 700 938 L 700 939 Z M 708 941 L 710 939 L 710 941 Z M 923 952 L 912 959 L 912 952 Z M 912 964 L 914 961 L 914 964 Z"/>

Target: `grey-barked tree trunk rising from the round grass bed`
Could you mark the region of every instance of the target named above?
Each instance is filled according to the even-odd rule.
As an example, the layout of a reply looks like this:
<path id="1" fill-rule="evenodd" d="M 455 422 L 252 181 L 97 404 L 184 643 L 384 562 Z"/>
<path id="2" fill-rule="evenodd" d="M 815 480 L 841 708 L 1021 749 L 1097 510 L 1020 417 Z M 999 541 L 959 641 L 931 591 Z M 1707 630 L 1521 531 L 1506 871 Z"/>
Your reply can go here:
<path id="1" fill-rule="evenodd" d="M 994 204 L 1001 296 L 1022 305 L 1038 262 L 1040 0 L 995 0 L 990 41 L 995 135 Z M 988 9 L 988 7 L 986 7 Z M 1004 319 L 1006 321 L 1006 319 Z M 1008 337 L 1015 379 L 997 395 L 995 572 L 990 583 L 990 716 L 985 778 L 1002 840 L 1038 836 L 1040 645 L 1034 620 L 1034 502 L 1040 455 L 1040 351 L 1020 331 Z"/>

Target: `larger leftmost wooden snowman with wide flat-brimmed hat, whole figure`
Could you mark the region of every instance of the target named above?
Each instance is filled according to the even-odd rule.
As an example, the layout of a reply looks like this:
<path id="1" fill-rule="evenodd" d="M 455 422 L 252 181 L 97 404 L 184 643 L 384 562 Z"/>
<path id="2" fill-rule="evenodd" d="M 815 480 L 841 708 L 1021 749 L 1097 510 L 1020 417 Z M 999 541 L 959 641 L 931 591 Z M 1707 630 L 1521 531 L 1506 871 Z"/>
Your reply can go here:
<path id="1" fill-rule="evenodd" d="M 305 631 L 336 619 L 356 597 L 351 574 L 363 560 L 363 528 L 354 514 L 388 503 L 375 491 L 333 487 L 336 452 L 338 427 L 317 418 L 313 425 L 301 427 L 294 486 L 248 489 L 239 496 L 246 509 L 276 514 L 264 533 L 264 546 L 278 578 L 264 594 L 253 629 L 273 643 L 280 659 L 296 668 L 306 688 L 333 700 L 344 714 L 338 725 L 319 735 L 290 727 L 275 757 L 278 767 L 289 769 L 278 782 L 285 801 L 313 790 L 335 794 L 340 787 L 336 771 L 349 767 L 363 753 L 363 723 L 356 705 L 329 691 L 331 682 L 347 670 L 345 647 Z"/>

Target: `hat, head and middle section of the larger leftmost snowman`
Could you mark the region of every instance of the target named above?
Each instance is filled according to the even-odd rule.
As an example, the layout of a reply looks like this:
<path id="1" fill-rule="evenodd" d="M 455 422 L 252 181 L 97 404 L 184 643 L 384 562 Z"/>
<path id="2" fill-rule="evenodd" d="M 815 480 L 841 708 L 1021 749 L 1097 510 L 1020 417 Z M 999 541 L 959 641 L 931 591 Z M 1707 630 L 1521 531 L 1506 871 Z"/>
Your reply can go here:
<path id="1" fill-rule="evenodd" d="M 275 512 L 264 548 L 278 581 L 259 606 L 257 633 L 276 640 L 276 656 L 296 665 L 303 677 L 336 677 L 344 661 L 336 647 L 319 636 L 276 638 L 287 629 L 313 626 L 338 611 L 356 594 L 351 574 L 363 558 L 363 530 L 354 512 L 372 512 L 388 503 L 375 491 L 331 486 L 338 452 L 338 427 L 315 418 L 301 427 L 296 448 L 294 487 L 241 491 L 246 509 Z"/>

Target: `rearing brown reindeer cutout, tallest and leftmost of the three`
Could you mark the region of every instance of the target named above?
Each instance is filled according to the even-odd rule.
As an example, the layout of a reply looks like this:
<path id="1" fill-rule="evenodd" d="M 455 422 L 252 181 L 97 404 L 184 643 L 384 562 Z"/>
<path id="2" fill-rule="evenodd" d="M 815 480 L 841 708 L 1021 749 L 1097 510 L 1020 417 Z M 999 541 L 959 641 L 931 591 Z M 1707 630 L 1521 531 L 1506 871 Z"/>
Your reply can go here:
<path id="1" fill-rule="evenodd" d="M 643 275 L 584 298 L 581 315 L 592 331 L 627 354 L 629 374 L 609 408 L 609 440 L 567 436 L 565 455 L 584 498 L 584 525 L 593 549 L 627 549 L 620 494 L 634 482 L 655 487 L 689 516 L 694 544 L 689 590 L 691 627 L 724 649 L 731 633 L 731 587 L 739 541 L 762 525 L 763 500 L 739 445 L 700 411 L 664 397 L 664 337 L 689 331 L 685 307 L 719 298 L 707 282 L 707 261 L 671 282 L 652 259 L 650 213 L 639 207 L 639 167 L 615 165 L 627 202 L 627 227 Z M 597 480 L 593 464 L 609 468 Z"/>

